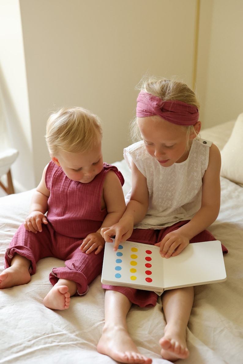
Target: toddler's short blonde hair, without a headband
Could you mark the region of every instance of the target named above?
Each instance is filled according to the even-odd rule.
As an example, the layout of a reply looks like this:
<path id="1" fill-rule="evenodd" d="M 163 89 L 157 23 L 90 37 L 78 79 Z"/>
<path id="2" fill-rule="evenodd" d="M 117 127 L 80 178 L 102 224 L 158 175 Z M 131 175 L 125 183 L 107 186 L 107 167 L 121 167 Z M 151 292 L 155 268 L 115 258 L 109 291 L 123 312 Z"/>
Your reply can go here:
<path id="1" fill-rule="evenodd" d="M 59 151 L 85 153 L 101 139 L 101 120 L 82 107 L 62 107 L 47 120 L 46 143 L 52 157 Z"/>

